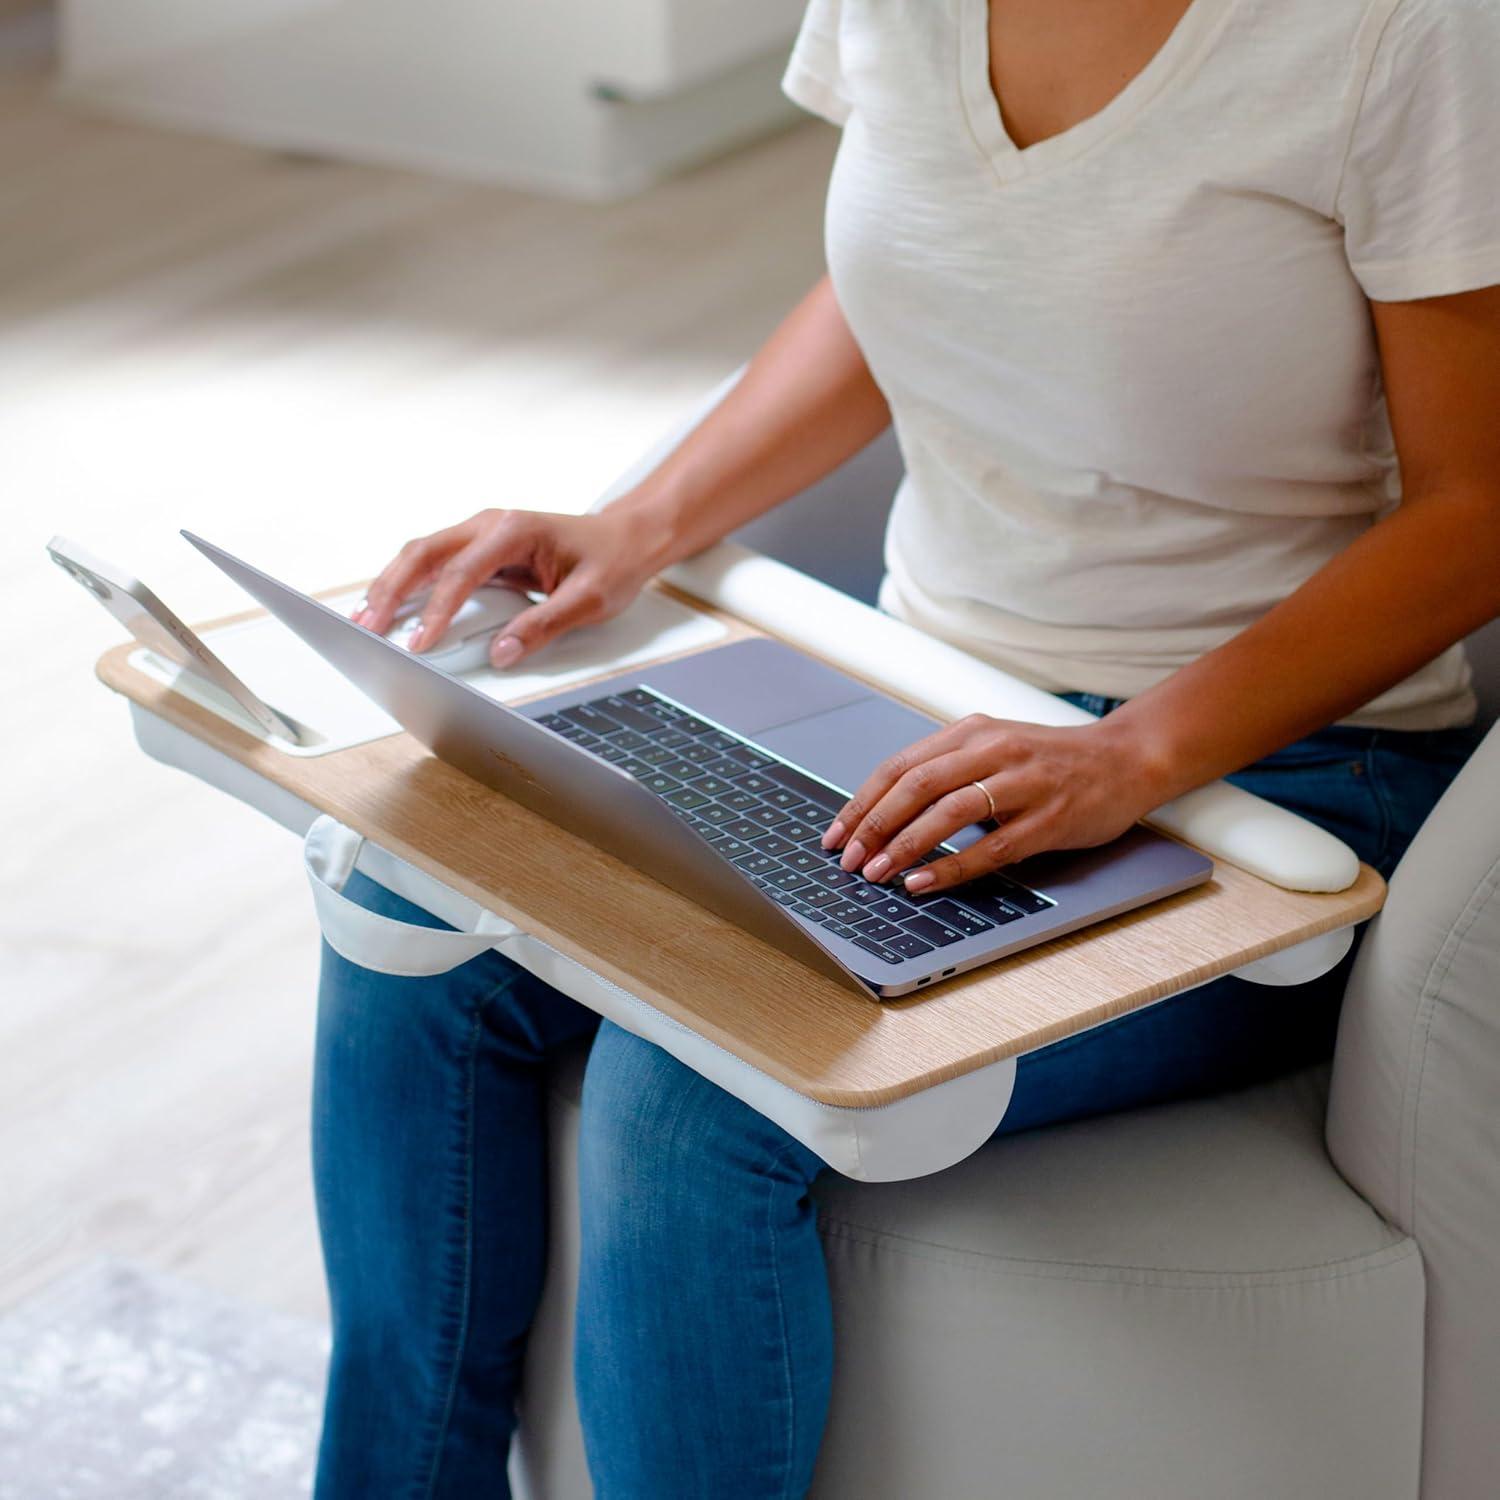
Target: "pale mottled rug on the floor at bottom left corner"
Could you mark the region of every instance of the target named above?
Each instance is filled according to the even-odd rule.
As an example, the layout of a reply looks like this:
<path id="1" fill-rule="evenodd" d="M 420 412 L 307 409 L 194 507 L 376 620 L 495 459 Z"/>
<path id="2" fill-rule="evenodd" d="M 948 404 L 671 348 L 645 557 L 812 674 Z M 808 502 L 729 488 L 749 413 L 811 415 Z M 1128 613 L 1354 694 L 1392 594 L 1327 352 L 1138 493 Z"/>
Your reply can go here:
<path id="1" fill-rule="evenodd" d="M 0 1500 L 303 1500 L 327 1334 L 120 1262 L 0 1318 Z"/>

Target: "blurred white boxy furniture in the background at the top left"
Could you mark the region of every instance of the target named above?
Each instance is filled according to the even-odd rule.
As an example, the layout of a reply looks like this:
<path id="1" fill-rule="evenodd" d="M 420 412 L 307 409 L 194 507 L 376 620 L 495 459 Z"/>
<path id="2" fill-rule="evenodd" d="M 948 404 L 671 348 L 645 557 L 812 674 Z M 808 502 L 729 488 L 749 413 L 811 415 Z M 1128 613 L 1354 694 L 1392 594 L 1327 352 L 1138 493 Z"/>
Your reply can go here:
<path id="1" fill-rule="evenodd" d="M 614 198 L 795 117 L 801 0 L 60 0 L 63 98 Z"/>

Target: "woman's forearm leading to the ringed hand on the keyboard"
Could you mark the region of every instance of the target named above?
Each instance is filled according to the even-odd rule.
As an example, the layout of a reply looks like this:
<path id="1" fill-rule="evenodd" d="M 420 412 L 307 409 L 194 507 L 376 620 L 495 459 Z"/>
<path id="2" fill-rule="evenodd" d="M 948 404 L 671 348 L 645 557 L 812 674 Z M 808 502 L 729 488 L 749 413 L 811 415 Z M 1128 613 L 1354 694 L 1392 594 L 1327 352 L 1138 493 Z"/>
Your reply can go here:
<path id="1" fill-rule="evenodd" d="M 1107 723 L 1160 801 L 1344 717 L 1500 614 L 1500 494 L 1408 498 Z"/>

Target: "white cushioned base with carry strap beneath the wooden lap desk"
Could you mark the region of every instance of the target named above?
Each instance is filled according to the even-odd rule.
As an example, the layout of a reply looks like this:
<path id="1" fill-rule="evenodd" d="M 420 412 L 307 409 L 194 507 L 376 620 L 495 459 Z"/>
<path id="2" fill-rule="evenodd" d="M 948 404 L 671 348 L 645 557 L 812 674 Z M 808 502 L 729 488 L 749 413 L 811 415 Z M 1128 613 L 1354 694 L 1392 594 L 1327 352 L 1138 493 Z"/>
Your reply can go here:
<path id="1" fill-rule="evenodd" d="M 663 1047 L 774 1120 L 830 1167 L 864 1182 L 896 1182 L 951 1167 L 988 1140 L 1010 1106 L 1016 1083 L 1014 1058 L 975 1068 L 892 1104 L 849 1108 L 807 1098 L 441 880 L 320 814 L 310 802 L 258 776 L 225 752 L 214 750 L 134 702 L 130 717 L 136 742 L 152 759 L 188 771 L 303 837 L 322 933 L 338 952 L 354 963 L 393 974 L 441 974 L 495 948 L 579 1004 Z M 357 906 L 342 894 L 354 868 L 448 922 L 454 932 L 392 921 Z M 1338 963 L 1352 940 L 1353 928 L 1346 927 L 1260 958 L 1238 972 L 1258 982 L 1298 984 Z"/>

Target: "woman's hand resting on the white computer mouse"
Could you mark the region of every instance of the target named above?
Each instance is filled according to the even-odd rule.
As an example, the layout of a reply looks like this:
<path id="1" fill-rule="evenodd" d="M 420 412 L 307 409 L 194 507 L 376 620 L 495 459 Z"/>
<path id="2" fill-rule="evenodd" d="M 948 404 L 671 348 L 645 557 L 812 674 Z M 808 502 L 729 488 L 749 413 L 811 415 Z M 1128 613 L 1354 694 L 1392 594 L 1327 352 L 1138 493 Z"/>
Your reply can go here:
<path id="1" fill-rule="evenodd" d="M 507 668 L 567 630 L 618 615 L 656 570 L 639 516 L 482 510 L 408 542 L 370 584 L 354 621 L 384 634 L 400 604 L 430 588 L 411 639 L 412 651 L 424 651 L 442 639 L 459 604 L 482 584 L 494 579 L 546 594 L 490 642 L 490 662 Z"/>

